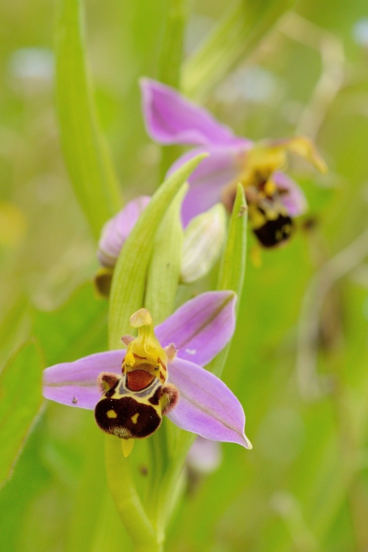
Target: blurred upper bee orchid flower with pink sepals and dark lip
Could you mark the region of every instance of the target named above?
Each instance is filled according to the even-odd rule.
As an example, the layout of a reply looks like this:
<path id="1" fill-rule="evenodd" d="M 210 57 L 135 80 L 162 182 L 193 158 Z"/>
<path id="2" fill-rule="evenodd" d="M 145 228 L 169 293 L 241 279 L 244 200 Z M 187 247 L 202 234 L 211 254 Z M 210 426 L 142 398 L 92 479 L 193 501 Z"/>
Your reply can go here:
<path id="1" fill-rule="evenodd" d="M 190 144 L 169 172 L 200 152 L 209 152 L 189 179 L 182 218 L 184 225 L 195 215 L 222 201 L 231 210 L 238 182 L 244 186 L 249 220 L 266 247 L 288 239 L 293 217 L 307 208 L 302 190 L 281 170 L 288 152 L 294 152 L 325 172 L 324 161 L 305 137 L 253 144 L 236 137 L 204 108 L 177 91 L 151 79 L 142 79 L 143 111 L 148 134 L 161 144 Z"/>

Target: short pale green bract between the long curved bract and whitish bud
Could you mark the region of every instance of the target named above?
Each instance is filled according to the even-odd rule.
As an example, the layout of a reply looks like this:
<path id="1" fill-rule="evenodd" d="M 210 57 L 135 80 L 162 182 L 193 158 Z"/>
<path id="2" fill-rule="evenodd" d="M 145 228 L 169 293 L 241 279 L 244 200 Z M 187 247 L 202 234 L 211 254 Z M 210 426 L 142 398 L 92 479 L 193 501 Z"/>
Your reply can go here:
<path id="1" fill-rule="evenodd" d="M 174 310 L 182 264 L 183 227 L 180 210 L 187 189 L 188 186 L 182 186 L 173 199 L 159 225 L 153 245 L 144 303 L 155 324 L 163 322 Z"/>

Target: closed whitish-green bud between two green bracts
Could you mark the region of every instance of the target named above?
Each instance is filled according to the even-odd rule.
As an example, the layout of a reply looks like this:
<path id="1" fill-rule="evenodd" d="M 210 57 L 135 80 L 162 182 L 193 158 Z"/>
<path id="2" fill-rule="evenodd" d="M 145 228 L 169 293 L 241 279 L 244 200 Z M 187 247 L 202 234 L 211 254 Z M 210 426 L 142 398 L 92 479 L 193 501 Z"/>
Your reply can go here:
<path id="1" fill-rule="evenodd" d="M 226 235 L 226 210 L 222 204 L 194 217 L 184 230 L 180 280 L 191 284 L 211 270 Z"/>

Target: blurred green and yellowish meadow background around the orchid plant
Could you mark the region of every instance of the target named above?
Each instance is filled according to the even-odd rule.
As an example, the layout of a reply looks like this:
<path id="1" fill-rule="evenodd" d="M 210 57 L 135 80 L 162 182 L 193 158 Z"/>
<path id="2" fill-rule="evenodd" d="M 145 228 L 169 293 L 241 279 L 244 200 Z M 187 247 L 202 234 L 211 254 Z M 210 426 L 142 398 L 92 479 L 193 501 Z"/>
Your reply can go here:
<path id="1" fill-rule="evenodd" d="M 163 78 L 178 3 L 85 4 L 95 100 L 124 199 L 152 193 L 167 152 L 146 136 L 137 79 Z M 107 347 L 107 304 L 91 283 L 96 245 L 59 144 L 56 9 L 46 0 L 0 7 L 1 366 L 36 337 L 39 371 Z M 184 59 L 227 9 L 226 0 L 186 7 Z M 367 16 L 360 0 L 296 3 L 193 92 L 239 135 L 308 135 L 329 174 L 293 160 L 310 211 L 287 247 L 262 252 L 260 266 L 248 259 L 224 380 L 244 406 L 253 451 L 221 445 L 217 471 L 188 486 L 168 551 L 368 550 Z M 32 360 L 23 357 L 17 411 Z M 130 550 L 103 455 L 92 413 L 45 405 L 0 493 L 0 549 Z"/>

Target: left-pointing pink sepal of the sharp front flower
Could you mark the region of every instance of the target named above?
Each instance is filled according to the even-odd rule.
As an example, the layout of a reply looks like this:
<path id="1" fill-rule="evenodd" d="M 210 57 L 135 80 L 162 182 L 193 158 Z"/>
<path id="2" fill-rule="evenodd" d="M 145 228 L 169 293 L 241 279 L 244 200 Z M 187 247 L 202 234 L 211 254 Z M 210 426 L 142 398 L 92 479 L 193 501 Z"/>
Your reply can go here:
<path id="1" fill-rule="evenodd" d="M 97 376 L 101 372 L 121 375 L 124 355 L 122 350 L 107 351 L 46 368 L 43 371 L 43 396 L 68 406 L 93 410 L 101 398 Z"/>

